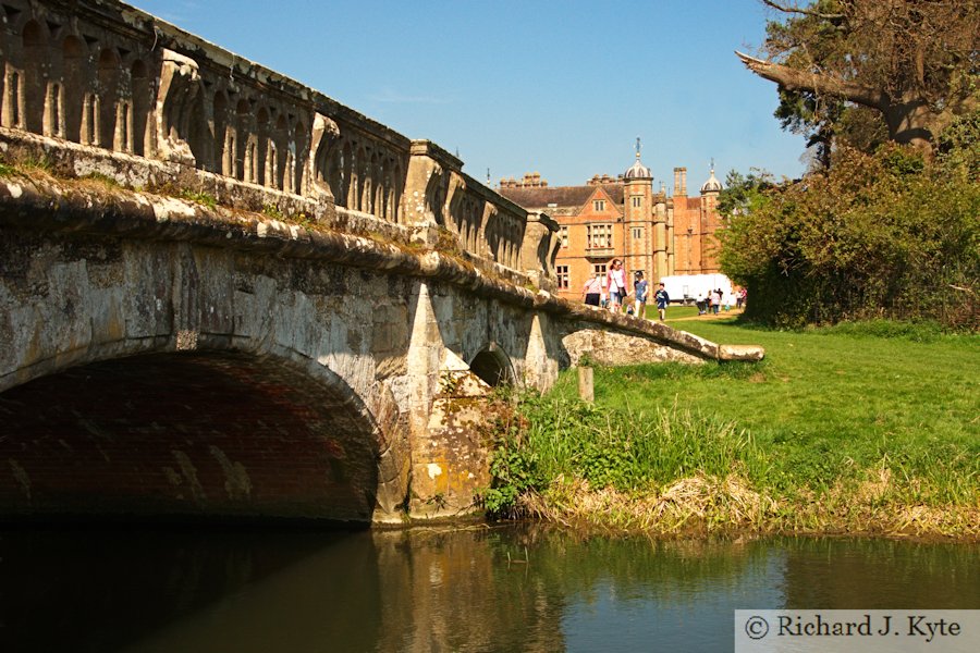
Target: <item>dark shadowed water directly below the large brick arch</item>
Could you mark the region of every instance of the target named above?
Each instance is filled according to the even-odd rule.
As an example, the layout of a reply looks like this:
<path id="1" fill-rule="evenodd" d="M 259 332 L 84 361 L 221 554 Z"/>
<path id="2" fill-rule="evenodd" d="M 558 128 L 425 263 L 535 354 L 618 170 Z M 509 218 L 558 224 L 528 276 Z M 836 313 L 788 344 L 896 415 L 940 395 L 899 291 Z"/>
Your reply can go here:
<path id="1" fill-rule="evenodd" d="M 7 531 L 0 651 L 149 651 L 174 633 L 186 648 L 170 651 L 274 651 L 314 625 L 369 650 L 376 557 L 342 533 Z"/>

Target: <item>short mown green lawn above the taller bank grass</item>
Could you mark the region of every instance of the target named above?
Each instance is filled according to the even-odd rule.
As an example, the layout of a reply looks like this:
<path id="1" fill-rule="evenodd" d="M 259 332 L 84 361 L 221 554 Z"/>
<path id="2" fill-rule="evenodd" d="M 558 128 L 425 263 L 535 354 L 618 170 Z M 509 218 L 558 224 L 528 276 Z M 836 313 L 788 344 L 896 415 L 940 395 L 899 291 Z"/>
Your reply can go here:
<path id="1" fill-rule="evenodd" d="M 781 332 L 734 318 L 667 323 L 718 343 L 762 345 L 765 360 L 738 374 L 605 370 L 600 401 L 676 402 L 732 420 L 782 458 L 785 473 L 810 483 L 884 464 L 942 482 L 959 501 L 977 500 L 980 336 Z M 950 471 L 966 484 L 948 483 Z"/>

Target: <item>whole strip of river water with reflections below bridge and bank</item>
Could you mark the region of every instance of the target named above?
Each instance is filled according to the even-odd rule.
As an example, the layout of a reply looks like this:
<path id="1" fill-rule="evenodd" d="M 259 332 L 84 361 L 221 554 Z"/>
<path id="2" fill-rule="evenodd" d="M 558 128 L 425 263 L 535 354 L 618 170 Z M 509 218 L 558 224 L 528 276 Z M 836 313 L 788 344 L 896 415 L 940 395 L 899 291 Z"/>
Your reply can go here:
<path id="1" fill-rule="evenodd" d="M 731 651 L 736 608 L 980 608 L 980 547 L 0 527 L 0 651 Z"/>

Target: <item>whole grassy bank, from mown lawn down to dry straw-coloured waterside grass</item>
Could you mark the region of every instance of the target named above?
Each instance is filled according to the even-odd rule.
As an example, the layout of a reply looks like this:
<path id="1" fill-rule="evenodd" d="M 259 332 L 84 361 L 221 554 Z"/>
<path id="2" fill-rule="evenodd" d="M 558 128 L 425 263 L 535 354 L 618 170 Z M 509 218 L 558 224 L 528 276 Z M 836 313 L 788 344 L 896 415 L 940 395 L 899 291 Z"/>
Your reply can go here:
<path id="1" fill-rule="evenodd" d="M 980 537 L 980 336 L 889 322 L 674 326 L 762 364 L 597 368 L 526 396 L 488 506 L 661 532 L 755 528 Z"/>

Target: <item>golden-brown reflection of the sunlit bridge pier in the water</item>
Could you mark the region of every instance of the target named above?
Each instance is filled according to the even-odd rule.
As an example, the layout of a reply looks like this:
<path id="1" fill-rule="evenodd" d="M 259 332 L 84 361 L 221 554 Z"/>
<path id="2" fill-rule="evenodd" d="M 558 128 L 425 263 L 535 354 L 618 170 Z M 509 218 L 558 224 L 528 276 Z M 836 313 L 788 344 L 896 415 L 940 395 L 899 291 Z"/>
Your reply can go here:
<path id="1" fill-rule="evenodd" d="M 513 529 L 373 534 L 383 571 L 378 651 L 563 651 L 563 600 Z M 507 560 L 511 554 L 511 562 Z"/>

